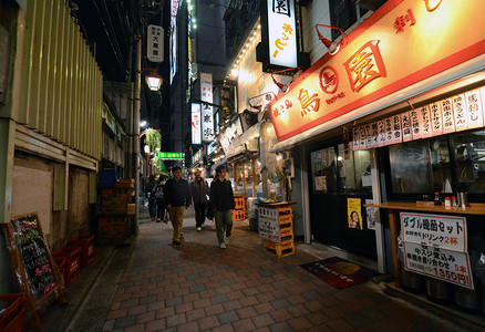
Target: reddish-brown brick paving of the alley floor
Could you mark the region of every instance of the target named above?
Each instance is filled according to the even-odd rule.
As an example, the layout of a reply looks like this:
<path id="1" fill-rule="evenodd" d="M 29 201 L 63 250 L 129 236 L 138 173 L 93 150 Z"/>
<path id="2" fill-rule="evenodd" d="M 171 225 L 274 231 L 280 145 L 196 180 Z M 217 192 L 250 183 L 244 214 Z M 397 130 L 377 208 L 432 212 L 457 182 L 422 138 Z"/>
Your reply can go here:
<path id="1" fill-rule="evenodd" d="M 172 225 L 142 219 L 113 276 L 87 298 L 71 331 L 453 331 L 369 281 L 338 290 L 301 269 L 318 260 L 298 251 L 281 259 L 262 251 L 256 232 L 235 222 L 227 249 L 217 246 L 214 222 L 196 231 L 184 219 L 182 246 Z M 117 282 L 118 280 L 118 282 Z M 116 283 L 117 282 L 117 283 Z M 112 288 L 112 295 L 102 290 Z M 95 298 L 97 293 L 97 300 Z M 100 294 L 101 293 L 101 294 Z M 103 303 L 104 302 L 104 303 Z M 103 311 L 101 308 L 105 308 Z M 95 321 L 95 315 L 101 321 Z"/>

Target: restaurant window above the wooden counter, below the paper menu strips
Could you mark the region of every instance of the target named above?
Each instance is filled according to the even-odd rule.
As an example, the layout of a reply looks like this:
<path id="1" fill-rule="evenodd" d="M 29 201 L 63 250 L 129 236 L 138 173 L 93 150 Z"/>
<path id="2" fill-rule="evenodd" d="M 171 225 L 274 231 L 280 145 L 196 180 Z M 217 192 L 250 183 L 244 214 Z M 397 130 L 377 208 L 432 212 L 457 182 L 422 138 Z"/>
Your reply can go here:
<path id="1" fill-rule="evenodd" d="M 485 131 L 389 147 L 392 194 L 485 193 Z"/>

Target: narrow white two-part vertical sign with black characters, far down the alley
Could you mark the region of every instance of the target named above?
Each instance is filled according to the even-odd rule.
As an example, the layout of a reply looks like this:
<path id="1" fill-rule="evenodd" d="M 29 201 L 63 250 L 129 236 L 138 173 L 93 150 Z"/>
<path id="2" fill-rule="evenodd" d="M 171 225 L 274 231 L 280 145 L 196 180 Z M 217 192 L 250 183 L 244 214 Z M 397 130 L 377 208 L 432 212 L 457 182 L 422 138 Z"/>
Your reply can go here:
<path id="1" fill-rule="evenodd" d="M 202 135 L 203 142 L 214 141 L 214 113 L 213 113 L 213 74 L 200 73 L 200 100 L 202 103 Z"/>

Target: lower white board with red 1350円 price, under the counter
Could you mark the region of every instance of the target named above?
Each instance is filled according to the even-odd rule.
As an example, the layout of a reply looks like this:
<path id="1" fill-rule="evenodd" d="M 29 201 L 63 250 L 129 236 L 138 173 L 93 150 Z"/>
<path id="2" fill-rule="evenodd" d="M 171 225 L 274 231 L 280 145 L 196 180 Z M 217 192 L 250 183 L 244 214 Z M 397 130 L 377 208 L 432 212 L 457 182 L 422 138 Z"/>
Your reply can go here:
<path id="1" fill-rule="evenodd" d="M 404 268 L 442 281 L 474 289 L 468 253 L 404 242 Z"/>

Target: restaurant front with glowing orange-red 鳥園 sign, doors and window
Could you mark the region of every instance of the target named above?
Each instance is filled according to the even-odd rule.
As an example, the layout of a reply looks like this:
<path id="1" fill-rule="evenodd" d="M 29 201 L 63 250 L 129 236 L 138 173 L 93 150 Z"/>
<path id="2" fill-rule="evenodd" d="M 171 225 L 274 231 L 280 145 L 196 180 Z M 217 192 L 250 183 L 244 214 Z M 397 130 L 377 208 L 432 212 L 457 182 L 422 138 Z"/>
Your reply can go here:
<path id="1" fill-rule="evenodd" d="M 485 198 L 484 6 L 386 1 L 342 34 L 337 52 L 313 62 L 272 101 L 278 143 L 270 151 L 293 158 L 300 174 L 292 187 L 300 187 L 301 195 L 292 200 L 301 208 L 305 242 L 368 257 L 380 272 L 404 271 L 396 269 L 404 250 L 405 271 L 413 271 L 411 261 L 417 255 L 421 263 L 421 253 L 407 242 L 398 248 L 396 237 L 407 241 L 407 231 L 414 231 L 446 238 L 433 232 L 440 232 L 433 222 L 446 227 L 441 218 L 448 214 L 466 219 L 467 249 L 426 243 L 461 252 L 464 278 L 476 279 L 473 256 L 484 240 L 478 221 Z M 458 193 L 466 193 L 465 204 L 478 210 L 415 208 L 434 205 L 424 201 L 435 197 L 444 206 Z M 409 229 L 404 207 L 382 208 L 391 203 L 407 203 L 420 211 L 413 218 L 421 228 Z M 416 242 L 424 246 L 423 238 Z M 432 279 L 464 287 L 452 277 L 414 272 L 426 278 L 426 287 Z M 477 289 L 481 280 L 475 280 Z"/>

